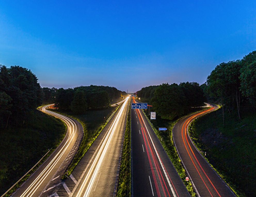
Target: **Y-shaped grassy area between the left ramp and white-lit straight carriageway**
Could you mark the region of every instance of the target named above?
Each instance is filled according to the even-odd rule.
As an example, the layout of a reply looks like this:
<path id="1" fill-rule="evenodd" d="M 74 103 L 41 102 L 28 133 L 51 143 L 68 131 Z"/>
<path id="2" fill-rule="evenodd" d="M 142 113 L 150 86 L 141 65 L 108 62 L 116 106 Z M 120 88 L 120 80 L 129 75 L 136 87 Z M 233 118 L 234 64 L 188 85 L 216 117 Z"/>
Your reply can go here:
<path id="1" fill-rule="evenodd" d="M 92 143 L 98 137 L 102 129 L 106 126 L 111 114 L 113 114 L 118 109 L 118 107 L 119 106 L 102 109 L 102 110 L 89 110 L 82 115 L 76 115 L 72 112 L 51 110 L 51 111 L 56 111 L 65 116 L 76 119 L 83 126 L 83 129 L 84 129 L 83 140 L 74 156 L 74 159 L 71 161 L 70 165 L 68 166 L 62 178 L 66 178 L 71 174 L 71 172 L 76 167 L 78 162 L 82 159 L 86 151 L 90 148 Z"/>

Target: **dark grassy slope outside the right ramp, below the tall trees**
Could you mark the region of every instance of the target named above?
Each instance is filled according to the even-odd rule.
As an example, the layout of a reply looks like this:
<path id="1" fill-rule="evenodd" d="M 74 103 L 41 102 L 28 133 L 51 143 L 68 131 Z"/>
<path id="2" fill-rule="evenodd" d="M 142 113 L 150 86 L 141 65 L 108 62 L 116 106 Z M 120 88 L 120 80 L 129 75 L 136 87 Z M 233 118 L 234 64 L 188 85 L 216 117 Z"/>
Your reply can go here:
<path id="1" fill-rule="evenodd" d="M 205 159 L 237 196 L 255 196 L 256 176 L 256 114 L 225 113 L 222 124 L 221 110 L 197 119 L 190 126 L 191 139 Z M 204 155 L 203 155 L 204 156 Z"/>

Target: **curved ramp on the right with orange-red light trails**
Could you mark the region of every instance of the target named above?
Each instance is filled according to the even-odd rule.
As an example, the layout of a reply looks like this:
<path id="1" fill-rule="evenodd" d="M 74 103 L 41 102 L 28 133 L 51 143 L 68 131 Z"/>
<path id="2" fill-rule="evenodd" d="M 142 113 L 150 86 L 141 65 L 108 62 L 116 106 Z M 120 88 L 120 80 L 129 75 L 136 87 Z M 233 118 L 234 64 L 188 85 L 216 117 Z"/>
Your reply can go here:
<path id="1" fill-rule="evenodd" d="M 235 196 L 199 153 L 188 135 L 188 126 L 194 119 L 217 108 L 217 105 L 211 105 L 210 109 L 181 119 L 173 128 L 176 149 L 198 196 Z"/>

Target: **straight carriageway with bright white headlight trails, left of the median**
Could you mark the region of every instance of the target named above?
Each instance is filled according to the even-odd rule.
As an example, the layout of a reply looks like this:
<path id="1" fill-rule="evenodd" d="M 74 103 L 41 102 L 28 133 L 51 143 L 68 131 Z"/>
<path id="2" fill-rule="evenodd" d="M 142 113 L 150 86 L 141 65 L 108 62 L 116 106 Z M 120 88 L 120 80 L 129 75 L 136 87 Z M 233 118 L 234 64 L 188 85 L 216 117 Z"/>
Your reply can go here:
<path id="1" fill-rule="evenodd" d="M 72 176 L 49 196 L 113 196 L 130 97 L 126 97 L 75 167 Z M 68 188 L 68 190 L 67 190 Z"/>

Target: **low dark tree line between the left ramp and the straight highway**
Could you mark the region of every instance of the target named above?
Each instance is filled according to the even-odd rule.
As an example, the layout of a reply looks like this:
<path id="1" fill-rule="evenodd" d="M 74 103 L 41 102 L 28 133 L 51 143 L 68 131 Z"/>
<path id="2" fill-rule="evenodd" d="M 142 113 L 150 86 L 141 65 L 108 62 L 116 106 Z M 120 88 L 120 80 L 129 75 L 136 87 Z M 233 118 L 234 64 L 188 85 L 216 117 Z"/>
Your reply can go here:
<path id="1" fill-rule="evenodd" d="M 76 88 L 43 88 L 44 103 L 55 103 L 60 110 L 73 111 L 76 114 L 86 110 L 109 107 L 110 103 L 126 95 L 115 87 L 109 86 L 80 86 Z"/>

